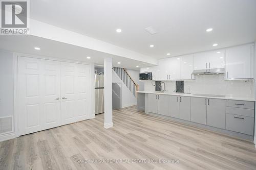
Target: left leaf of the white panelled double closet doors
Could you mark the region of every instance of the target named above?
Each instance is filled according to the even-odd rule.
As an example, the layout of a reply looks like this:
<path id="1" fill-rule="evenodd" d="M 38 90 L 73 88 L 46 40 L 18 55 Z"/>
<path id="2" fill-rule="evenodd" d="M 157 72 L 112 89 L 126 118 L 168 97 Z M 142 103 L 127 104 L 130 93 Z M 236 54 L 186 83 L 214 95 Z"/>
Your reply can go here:
<path id="1" fill-rule="evenodd" d="M 60 126 L 60 62 L 18 57 L 19 134 Z"/>

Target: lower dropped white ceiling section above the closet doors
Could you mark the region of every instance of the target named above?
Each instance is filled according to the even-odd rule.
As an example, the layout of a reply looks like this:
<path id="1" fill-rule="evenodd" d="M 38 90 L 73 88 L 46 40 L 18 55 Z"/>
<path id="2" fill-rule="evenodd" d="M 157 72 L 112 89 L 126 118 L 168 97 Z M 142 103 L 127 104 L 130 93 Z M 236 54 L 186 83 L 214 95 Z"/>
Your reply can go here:
<path id="1" fill-rule="evenodd" d="M 34 50 L 34 47 L 40 47 L 41 50 Z M 0 50 L 62 58 L 68 60 L 76 60 L 83 62 L 91 62 L 103 65 L 105 57 L 112 57 L 113 66 L 139 70 L 140 67 L 152 66 L 152 64 L 143 63 L 120 56 L 90 50 L 88 48 L 79 47 L 67 43 L 53 41 L 36 36 L 1 36 Z M 90 56 L 91 59 L 87 59 Z M 117 64 L 121 62 L 121 64 Z M 139 65 L 140 67 L 136 67 Z"/>

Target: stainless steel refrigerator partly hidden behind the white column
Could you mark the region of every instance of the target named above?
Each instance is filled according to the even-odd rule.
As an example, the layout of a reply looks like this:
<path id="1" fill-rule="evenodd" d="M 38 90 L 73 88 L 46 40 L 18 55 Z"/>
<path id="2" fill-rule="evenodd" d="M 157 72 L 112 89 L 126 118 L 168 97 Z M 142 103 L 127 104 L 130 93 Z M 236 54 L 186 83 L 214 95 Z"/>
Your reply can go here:
<path id="1" fill-rule="evenodd" d="M 104 75 L 95 74 L 95 114 L 104 113 Z"/>

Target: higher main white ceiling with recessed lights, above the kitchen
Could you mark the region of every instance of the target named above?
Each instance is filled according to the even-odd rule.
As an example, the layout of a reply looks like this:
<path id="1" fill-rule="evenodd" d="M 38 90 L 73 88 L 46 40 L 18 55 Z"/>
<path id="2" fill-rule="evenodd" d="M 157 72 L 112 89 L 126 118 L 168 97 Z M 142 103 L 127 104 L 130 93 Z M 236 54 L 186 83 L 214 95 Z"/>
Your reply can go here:
<path id="1" fill-rule="evenodd" d="M 33 19 L 155 57 L 256 40 L 255 0 L 33 0 Z M 157 34 L 144 29 L 152 26 Z M 122 33 L 116 33 L 116 29 Z M 207 28 L 213 28 L 207 33 Z M 218 43 L 217 47 L 212 44 Z M 154 44 L 154 48 L 149 45 Z"/>

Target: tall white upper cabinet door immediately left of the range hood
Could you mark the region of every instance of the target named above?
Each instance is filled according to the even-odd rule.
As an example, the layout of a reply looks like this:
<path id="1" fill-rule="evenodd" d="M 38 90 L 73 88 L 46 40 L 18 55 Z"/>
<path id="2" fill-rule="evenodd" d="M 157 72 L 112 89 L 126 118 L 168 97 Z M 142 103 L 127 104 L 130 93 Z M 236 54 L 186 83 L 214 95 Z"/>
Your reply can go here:
<path id="1" fill-rule="evenodd" d="M 193 75 L 193 55 L 181 56 L 180 79 L 192 79 Z"/>

